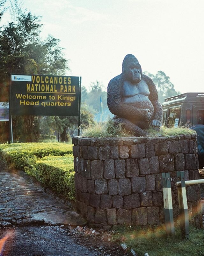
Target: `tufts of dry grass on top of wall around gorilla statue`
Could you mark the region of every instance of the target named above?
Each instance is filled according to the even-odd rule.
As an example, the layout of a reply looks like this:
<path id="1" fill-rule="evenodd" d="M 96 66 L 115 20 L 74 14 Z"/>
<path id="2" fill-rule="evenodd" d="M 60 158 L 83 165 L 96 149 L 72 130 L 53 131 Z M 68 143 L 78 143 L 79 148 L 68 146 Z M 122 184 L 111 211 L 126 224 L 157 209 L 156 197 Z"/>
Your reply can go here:
<path id="1" fill-rule="evenodd" d="M 82 136 L 88 138 L 107 138 L 107 137 L 130 137 L 133 136 L 130 132 L 126 132 L 122 124 L 116 126 L 111 118 L 106 122 L 96 123 L 91 125 L 82 126 Z M 162 126 L 160 131 L 154 130 L 152 127 L 147 129 L 146 137 L 169 137 L 171 135 L 193 134 L 195 131 L 186 127 L 180 126 L 178 128 L 167 128 Z"/>

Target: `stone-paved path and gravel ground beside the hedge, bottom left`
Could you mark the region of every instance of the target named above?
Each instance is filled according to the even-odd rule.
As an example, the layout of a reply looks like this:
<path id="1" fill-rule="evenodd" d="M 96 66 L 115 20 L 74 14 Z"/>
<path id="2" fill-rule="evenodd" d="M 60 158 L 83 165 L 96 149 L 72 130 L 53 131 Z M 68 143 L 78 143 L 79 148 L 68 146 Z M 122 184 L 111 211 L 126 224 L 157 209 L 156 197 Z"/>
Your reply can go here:
<path id="1" fill-rule="evenodd" d="M 110 233 L 85 227 L 80 215 L 0 165 L 0 256 L 119 256 Z"/>

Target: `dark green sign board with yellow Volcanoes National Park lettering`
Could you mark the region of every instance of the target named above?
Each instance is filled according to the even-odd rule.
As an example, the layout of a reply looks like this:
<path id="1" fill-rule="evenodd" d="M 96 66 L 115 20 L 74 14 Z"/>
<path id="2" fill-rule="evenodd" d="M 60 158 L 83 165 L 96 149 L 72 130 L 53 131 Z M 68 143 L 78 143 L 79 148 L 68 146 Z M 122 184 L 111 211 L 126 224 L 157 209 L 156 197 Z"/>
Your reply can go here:
<path id="1" fill-rule="evenodd" d="M 11 115 L 78 116 L 78 76 L 11 74 Z"/>

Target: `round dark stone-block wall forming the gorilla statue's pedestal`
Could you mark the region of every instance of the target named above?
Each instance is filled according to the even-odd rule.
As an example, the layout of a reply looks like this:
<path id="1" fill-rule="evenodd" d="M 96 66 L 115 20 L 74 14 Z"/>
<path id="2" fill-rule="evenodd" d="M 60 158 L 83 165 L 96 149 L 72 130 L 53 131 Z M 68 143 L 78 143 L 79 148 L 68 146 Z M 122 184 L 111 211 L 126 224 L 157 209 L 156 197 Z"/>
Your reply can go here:
<path id="1" fill-rule="evenodd" d="M 162 172 L 171 173 L 177 218 L 176 171 L 185 171 L 185 180 L 199 179 L 195 134 L 170 138 L 74 137 L 72 142 L 77 210 L 98 226 L 164 222 Z M 199 204 L 200 186 L 186 190 L 191 214 Z"/>

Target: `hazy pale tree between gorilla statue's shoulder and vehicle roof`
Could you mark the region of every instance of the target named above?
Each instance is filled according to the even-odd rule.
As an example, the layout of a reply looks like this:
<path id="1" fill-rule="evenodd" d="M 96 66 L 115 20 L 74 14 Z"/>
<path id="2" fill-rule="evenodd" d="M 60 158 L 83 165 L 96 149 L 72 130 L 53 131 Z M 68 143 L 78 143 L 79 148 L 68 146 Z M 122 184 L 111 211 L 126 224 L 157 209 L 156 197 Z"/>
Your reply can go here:
<path id="1" fill-rule="evenodd" d="M 174 85 L 171 83 L 170 77 L 166 76 L 166 74 L 163 71 L 158 71 L 156 75 L 153 75 L 147 71 L 145 71 L 144 74 L 149 76 L 156 85 L 159 96 L 159 102 L 161 104 L 164 102 L 165 98 L 180 93 L 174 89 Z"/>

